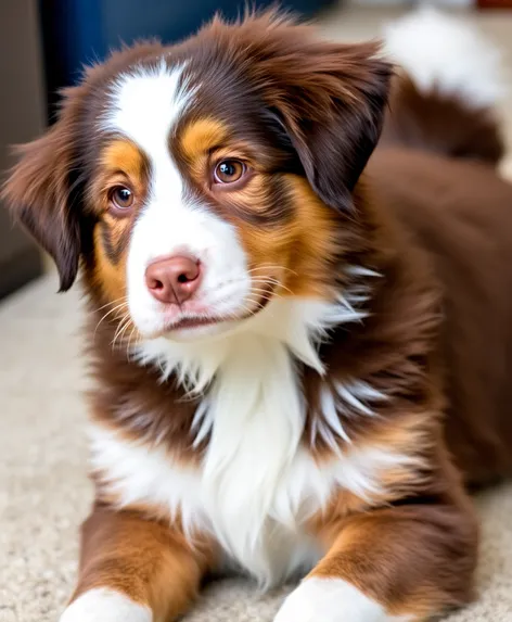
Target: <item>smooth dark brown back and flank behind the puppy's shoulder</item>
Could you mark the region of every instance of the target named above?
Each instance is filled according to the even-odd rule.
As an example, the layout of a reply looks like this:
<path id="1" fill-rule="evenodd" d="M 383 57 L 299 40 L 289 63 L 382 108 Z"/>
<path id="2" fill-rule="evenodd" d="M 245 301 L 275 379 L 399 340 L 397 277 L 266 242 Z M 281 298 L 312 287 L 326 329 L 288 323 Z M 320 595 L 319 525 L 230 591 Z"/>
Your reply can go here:
<path id="1" fill-rule="evenodd" d="M 443 283 L 448 446 L 470 484 L 508 475 L 512 189 L 483 164 L 405 149 L 377 150 L 368 170 Z"/>

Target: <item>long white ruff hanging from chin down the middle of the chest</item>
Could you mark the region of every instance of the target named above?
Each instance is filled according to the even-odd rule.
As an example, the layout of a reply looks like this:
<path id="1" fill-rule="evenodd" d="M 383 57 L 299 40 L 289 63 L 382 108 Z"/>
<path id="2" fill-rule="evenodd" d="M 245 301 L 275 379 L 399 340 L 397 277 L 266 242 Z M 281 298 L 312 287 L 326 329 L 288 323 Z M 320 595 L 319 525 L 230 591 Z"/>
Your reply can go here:
<path id="1" fill-rule="evenodd" d="M 333 326 L 360 321 L 363 299 L 358 291 L 356 300 L 334 303 L 278 300 L 234 333 L 194 344 L 159 338 L 135 353 L 141 364 L 159 366 L 163 380 L 176 375 L 202 396 L 192 427 L 195 445 L 209 436 L 199 483 L 206 526 L 265 585 L 290 571 L 289 556 L 285 566 L 276 558 L 276 538 L 318 509 L 305 505 L 311 458 L 300 447 L 306 408 L 296 364 L 323 375 L 319 341 Z M 183 522 L 185 530 L 197 526 L 194 517 Z"/>

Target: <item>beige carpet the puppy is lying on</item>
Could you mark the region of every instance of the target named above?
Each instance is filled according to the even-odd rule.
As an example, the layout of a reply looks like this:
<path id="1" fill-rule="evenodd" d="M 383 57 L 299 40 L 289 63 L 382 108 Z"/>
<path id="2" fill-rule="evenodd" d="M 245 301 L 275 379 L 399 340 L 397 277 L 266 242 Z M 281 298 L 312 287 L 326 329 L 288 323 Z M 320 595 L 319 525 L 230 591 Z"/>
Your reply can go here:
<path id="1" fill-rule="evenodd" d="M 331 36 L 364 38 L 385 16 L 337 11 L 325 27 Z M 512 49 L 512 14 L 483 22 Z M 74 584 L 77 529 L 91 500 L 79 295 L 55 290 L 49 276 L 0 305 L 0 622 L 56 620 Z M 512 485 L 477 504 L 479 600 L 449 621 L 512 622 Z M 270 622 L 284 593 L 260 597 L 247 582 L 221 583 L 187 621 Z"/>

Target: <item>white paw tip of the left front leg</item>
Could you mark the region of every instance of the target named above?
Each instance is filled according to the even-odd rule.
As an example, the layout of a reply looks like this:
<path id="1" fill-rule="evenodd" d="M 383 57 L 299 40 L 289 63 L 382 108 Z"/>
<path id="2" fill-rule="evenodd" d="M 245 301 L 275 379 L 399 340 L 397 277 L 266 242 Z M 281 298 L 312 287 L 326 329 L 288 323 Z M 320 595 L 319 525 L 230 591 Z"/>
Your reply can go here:
<path id="1" fill-rule="evenodd" d="M 99 587 L 90 589 L 76 600 L 61 615 L 60 622 L 152 622 L 148 607 L 133 602 L 114 589 Z"/>

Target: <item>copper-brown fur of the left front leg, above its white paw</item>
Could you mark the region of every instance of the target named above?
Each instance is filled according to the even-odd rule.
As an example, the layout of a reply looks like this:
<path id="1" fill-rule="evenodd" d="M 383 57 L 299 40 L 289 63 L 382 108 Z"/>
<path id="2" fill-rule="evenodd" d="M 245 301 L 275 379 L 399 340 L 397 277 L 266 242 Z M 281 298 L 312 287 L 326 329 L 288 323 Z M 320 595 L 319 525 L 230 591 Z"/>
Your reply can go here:
<path id="1" fill-rule="evenodd" d="M 197 595 L 215 547 L 194 547 L 164 522 L 97 504 L 81 532 L 80 579 L 72 600 L 94 587 L 116 589 L 151 607 L 154 620 L 174 620 Z"/>

